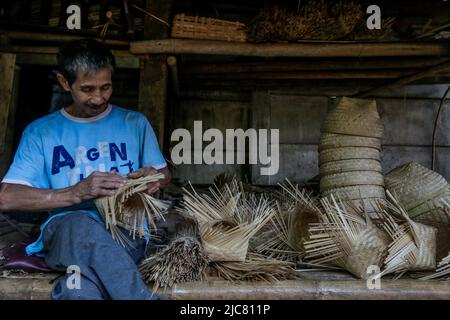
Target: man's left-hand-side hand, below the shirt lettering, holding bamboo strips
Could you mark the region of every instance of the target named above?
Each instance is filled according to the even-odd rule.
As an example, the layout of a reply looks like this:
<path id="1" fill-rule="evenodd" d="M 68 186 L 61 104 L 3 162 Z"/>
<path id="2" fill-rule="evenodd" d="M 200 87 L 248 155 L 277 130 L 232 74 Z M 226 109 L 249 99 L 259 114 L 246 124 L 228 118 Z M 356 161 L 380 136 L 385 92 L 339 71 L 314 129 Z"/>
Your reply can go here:
<path id="1" fill-rule="evenodd" d="M 72 193 L 77 202 L 113 196 L 117 189 L 123 187 L 126 178 L 116 172 L 94 172 L 86 179 L 72 187 Z"/>

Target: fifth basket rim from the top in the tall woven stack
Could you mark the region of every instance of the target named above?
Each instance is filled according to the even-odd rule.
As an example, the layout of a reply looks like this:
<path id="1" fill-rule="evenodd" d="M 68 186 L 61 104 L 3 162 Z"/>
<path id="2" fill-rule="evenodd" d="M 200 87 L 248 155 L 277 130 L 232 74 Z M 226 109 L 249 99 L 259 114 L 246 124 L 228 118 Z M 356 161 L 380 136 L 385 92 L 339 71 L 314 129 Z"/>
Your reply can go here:
<path id="1" fill-rule="evenodd" d="M 357 185 L 384 186 L 384 177 L 376 171 L 353 171 L 323 176 L 320 179 L 320 191 Z"/>

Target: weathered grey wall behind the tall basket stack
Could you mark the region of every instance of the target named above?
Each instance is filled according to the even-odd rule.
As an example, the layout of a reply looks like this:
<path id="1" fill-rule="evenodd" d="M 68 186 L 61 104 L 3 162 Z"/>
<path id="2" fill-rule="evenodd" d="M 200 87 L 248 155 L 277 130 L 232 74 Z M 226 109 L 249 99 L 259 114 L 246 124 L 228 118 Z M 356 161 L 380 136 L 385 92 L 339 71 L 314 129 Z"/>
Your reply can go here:
<path id="1" fill-rule="evenodd" d="M 382 165 L 385 172 L 409 161 L 431 167 L 433 123 L 447 85 L 414 85 L 386 91 L 377 98 L 385 128 Z M 184 165 L 175 177 L 193 183 L 211 183 L 214 176 L 227 171 L 238 176 L 247 173 L 255 184 L 273 185 L 285 177 L 305 182 L 318 174 L 320 128 L 337 99 L 309 95 L 312 91 L 253 92 L 250 101 L 183 100 L 175 128 L 192 129 L 193 121 L 204 126 L 225 128 L 280 129 L 280 168 L 274 176 L 262 176 L 259 166 Z M 217 96 L 217 95 L 216 95 Z M 444 108 L 437 132 L 437 171 L 450 179 L 450 110 Z M 204 128 L 205 130 L 205 128 Z M 247 174 L 248 175 L 248 174 Z"/>

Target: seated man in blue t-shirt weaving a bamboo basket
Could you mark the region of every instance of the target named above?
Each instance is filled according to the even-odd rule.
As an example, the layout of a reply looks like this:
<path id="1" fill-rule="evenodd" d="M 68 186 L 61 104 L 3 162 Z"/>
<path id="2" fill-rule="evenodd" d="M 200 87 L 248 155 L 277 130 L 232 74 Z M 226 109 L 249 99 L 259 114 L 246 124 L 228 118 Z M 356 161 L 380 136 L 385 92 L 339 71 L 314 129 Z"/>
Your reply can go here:
<path id="1" fill-rule="evenodd" d="M 72 274 L 63 276 L 53 299 L 155 298 L 136 265 L 146 240 L 134 240 L 132 248 L 120 246 L 92 201 L 113 195 L 127 175 L 163 173 L 163 180 L 148 185 L 149 194 L 169 184 L 171 174 L 153 129 L 144 115 L 108 103 L 115 61 L 103 44 L 68 43 L 58 64 L 58 81 L 73 103 L 25 129 L 0 186 L 0 210 L 50 210 L 27 254 L 43 255 L 50 268 L 65 272 L 70 267 L 81 276 L 80 286 L 68 285 Z"/>

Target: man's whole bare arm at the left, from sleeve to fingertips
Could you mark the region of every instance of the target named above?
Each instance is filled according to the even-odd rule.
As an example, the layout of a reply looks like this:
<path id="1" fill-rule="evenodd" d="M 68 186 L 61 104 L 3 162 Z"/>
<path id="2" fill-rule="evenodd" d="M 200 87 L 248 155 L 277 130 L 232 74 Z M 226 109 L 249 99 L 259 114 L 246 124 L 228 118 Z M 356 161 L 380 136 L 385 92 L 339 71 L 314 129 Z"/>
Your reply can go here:
<path id="1" fill-rule="evenodd" d="M 113 195 L 125 178 L 116 173 L 94 172 L 88 178 L 65 189 L 39 189 L 24 185 L 0 185 L 1 211 L 45 211 Z"/>

